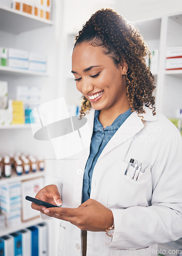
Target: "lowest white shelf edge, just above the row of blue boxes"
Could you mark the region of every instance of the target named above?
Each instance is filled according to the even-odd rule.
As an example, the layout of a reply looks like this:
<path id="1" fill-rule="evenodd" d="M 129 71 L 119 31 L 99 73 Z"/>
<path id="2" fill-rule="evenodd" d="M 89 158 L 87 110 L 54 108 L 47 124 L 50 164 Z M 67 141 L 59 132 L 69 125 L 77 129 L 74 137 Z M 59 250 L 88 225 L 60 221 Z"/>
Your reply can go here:
<path id="1" fill-rule="evenodd" d="M 43 220 L 40 217 L 37 217 L 33 220 L 22 222 L 21 224 L 18 224 L 18 226 L 15 225 L 15 226 L 12 226 L 12 227 L 7 227 L 5 229 L 1 228 L 0 229 L 0 237 L 5 236 L 6 234 L 9 234 L 9 233 L 13 233 L 15 231 L 27 228 L 27 227 L 37 225 L 41 222 L 43 222 Z"/>

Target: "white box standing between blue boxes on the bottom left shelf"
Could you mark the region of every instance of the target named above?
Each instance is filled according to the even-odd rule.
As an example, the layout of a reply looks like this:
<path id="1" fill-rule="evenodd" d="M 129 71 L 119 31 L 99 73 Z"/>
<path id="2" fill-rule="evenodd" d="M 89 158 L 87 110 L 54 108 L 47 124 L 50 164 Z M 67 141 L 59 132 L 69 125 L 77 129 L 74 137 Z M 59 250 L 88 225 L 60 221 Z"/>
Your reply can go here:
<path id="1" fill-rule="evenodd" d="M 23 229 L 19 232 L 22 233 L 22 254 L 24 256 L 31 256 L 32 255 L 32 248 L 31 248 L 31 231 L 30 229 Z"/>

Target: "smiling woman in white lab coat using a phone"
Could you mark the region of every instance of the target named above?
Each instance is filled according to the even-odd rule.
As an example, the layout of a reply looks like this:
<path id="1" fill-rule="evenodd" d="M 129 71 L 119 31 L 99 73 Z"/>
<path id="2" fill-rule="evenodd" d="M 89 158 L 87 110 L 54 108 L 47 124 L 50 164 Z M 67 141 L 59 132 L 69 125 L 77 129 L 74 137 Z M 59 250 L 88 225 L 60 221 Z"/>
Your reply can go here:
<path id="1" fill-rule="evenodd" d="M 80 116 L 90 110 L 90 148 L 63 161 L 58 187 L 36 195 L 62 207 L 32 203 L 61 220 L 59 255 L 155 255 L 157 243 L 182 236 L 181 136 L 155 113 L 146 56 L 138 31 L 110 9 L 76 36 L 72 73 Z"/>

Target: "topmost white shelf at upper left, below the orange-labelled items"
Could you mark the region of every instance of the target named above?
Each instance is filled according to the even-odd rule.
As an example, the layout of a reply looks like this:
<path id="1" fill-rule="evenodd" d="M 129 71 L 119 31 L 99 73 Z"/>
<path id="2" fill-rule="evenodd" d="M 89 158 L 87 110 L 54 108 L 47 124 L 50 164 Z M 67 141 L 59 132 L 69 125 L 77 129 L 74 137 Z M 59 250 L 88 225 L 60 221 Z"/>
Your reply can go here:
<path id="1" fill-rule="evenodd" d="M 53 22 L 17 10 L 0 7 L 0 24 L 1 30 L 17 34 L 37 28 L 52 26 Z"/>

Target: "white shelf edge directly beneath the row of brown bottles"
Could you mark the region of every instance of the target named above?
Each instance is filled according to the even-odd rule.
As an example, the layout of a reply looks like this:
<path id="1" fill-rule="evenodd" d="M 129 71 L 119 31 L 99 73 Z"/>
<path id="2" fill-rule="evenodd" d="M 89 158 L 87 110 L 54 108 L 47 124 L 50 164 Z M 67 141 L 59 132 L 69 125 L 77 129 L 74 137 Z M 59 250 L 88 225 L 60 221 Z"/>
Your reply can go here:
<path id="1" fill-rule="evenodd" d="M 45 176 L 44 170 L 43 171 L 37 170 L 35 173 L 22 174 L 22 175 L 17 175 L 14 172 L 14 173 L 12 173 L 11 177 L 8 177 L 8 178 L 2 177 L 0 179 L 0 185 L 10 183 L 10 182 L 17 182 L 17 181 L 23 181 L 23 180 L 28 180 L 28 179 L 44 177 L 44 176 Z"/>

